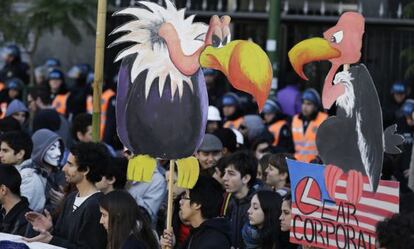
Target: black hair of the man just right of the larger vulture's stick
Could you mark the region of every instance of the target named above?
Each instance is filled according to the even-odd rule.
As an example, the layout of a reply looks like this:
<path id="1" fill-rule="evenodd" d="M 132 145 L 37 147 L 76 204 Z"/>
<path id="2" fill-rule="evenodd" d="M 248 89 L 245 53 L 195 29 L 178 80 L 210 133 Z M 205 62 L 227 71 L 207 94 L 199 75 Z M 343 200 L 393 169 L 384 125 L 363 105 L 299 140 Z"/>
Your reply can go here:
<path id="1" fill-rule="evenodd" d="M 219 216 L 223 204 L 223 191 L 212 177 L 200 175 L 194 188 L 190 189 L 190 203 L 201 205 L 201 216 L 211 219 Z"/>

